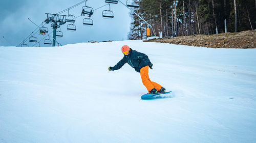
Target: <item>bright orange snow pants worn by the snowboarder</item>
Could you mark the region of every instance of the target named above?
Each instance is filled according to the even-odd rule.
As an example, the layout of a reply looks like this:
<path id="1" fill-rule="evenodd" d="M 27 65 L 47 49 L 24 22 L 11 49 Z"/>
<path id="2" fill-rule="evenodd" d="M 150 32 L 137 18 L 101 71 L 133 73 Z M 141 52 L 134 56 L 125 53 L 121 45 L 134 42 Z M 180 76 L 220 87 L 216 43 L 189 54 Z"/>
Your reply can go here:
<path id="1" fill-rule="evenodd" d="M 150 91 L 153 90 L 154 88 L 157 91 L 161 90 L 162 86 L 160 84 L 150 80 L 150 77 L 148 76 L 148 66 L 145 66 L 140 69 L 140 76 L 142 79 L 142 83 L 145 85 L 148 93 L 150 93 Z"/>

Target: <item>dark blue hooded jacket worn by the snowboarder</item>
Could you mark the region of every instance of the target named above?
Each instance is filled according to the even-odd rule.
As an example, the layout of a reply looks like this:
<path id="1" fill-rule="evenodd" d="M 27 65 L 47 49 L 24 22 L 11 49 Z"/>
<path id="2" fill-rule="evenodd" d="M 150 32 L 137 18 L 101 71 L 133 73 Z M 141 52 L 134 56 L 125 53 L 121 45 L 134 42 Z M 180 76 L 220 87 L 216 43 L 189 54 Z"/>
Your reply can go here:
<path id="1" fill-rule="evenodd" d="M 123 59 L 120 60 L 112 70 L 120 69 L 125 63 L 128 63 L 137 72 L 140 72 L 141 68 L 151 65 L 150 59 L 148 59 L 146 54 L 131 49 L 130 53 L 128 55 L 124 55 Z"/>

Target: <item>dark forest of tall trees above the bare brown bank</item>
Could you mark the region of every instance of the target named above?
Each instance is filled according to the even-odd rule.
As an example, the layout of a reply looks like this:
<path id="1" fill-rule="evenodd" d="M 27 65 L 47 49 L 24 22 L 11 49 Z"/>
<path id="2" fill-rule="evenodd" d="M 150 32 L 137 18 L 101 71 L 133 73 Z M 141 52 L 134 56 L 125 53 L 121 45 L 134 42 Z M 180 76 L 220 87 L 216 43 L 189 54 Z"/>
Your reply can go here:
<path id="1" fill-rule="evenodd" d="M 131 12 L 130 40 L 151 35 L 177 37 L 241 32 L 256 28 L 256 0 L 140 0 Z"/>

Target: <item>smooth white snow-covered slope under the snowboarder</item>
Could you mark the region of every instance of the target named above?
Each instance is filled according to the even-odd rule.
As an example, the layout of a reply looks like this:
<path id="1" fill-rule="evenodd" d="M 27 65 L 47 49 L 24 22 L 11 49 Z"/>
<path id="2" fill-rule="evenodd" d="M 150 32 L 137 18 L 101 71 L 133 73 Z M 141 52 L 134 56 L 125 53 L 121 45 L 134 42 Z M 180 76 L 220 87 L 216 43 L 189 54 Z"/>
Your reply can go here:
<path id="1" fill-rule="evenodd" d="M 173 91 L 141 100 L 121 46 Z M 256 49 L 142 41 L 0 47 L 0 142 L 255 142 Z"/>

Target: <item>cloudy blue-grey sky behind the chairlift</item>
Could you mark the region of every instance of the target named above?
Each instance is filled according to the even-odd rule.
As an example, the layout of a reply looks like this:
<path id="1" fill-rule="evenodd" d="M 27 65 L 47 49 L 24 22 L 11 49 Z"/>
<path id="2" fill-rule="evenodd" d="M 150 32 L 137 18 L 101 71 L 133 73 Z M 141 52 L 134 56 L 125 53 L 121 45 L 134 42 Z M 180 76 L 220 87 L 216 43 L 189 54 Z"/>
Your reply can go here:
<path id="1" fill-rule="evenodd" d="M 1 1 L 0 2 L 0 46 L 16 46 L 23 39 L 31 35 L 31 32 L 37 27 L 28 20 L 30 18 L 37 25 L 41 24 L 47 18 L 45 13 L 58 13 L 65 10 L 75 4 L 82 2 L 81 0 L 13 0 L 13 1 Z M 121 2 L 126 3 L 125 0 Z M 104 6 L 106 3 L 104 0 L 88 0 L 87 6 L 97 9 Z M 85 3 L 71 9 L 69 14 L 74 16 L 81 15 L 82 6 Z M 126 40 L 127 33 L 130 31 L 130 10 L 124 7 L 120 2 L 118 4 L 110 4 L 111 10 L 114 12 L 113 19 L 102 18 L 102 11 L 108 10 L 109 6 L 104 6 L 94 11 L 92 15 L 93 26 L 83 26 L 82 20 L 84 16 L 80 16 L 74 23 L 77 30 L 75 32 L 67 31 L 67 23 L 61 25 L 61 31 L 63 37 L 57 37 L 56 40 L 61 45 L 69 43 L 80 43 L 94 41 L 106 41 L 106 40 Z M 68 12 L 61 13 L 67 15 Z M 46 24 L 49 28 L 49 33 L 53 31 L 50 24 Z M 3 39 L 3 36 L 5 39 Z M 34 35 L 38 41 L 44 38 L 39 35 L 39 32 Z M 52 36 L 52 34 L 51 34 Z M 47 38 L 48 39 L 48 38 Z M 51 39 L 51 38 L 50 38 Z M 52 40 L 52 39 L 51 39 Z M 40 46 L 44 45 L 44 40 L 40 42 Z M 26 42 L 29 46 L 34 45 L 29 41 Z M 36 44 L 38 45 L 38 44 Z M 57 45 L 57 44 L 56 44 Z"/>

